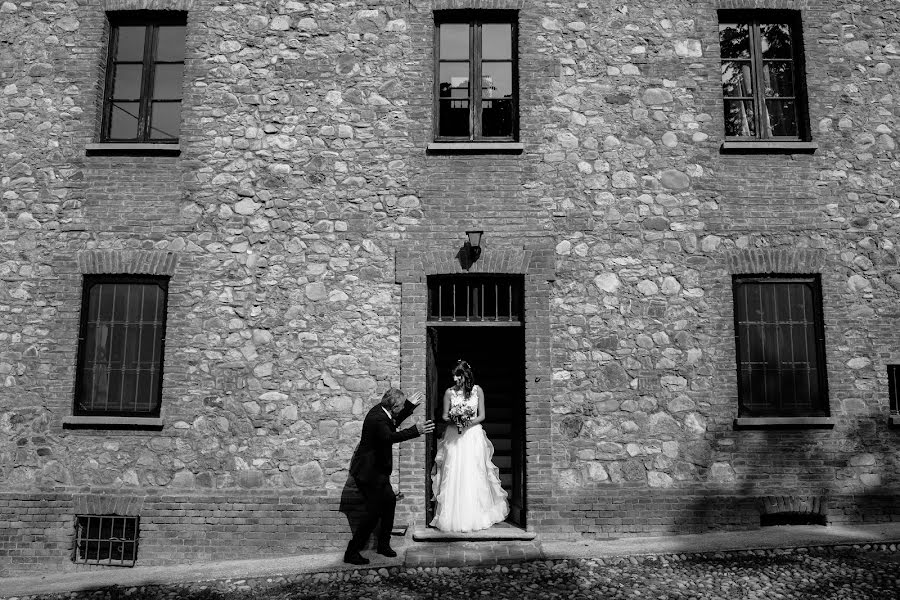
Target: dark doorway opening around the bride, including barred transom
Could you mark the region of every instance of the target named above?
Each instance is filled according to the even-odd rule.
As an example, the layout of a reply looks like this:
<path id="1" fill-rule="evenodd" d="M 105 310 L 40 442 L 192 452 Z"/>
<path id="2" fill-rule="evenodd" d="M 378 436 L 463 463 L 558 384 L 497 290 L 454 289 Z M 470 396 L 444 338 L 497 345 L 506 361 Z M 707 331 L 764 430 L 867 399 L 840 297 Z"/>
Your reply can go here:
<path id="1" fill-rule="evenodd" d="M 431 469 L 437 440 L 446 426 L 441 421 L 444 391 L 453 385 L 451 371 L 462 359 L 472 366 L 475 383 L 484 390 L 482 427 L 494 445 L 493 462 L 500 469 L 501 485 L 509 495 L 507 522 L 524 528 L 523 278 L 443 276 L 429 277 L 428 283 L 426 410 L 438 429 L 426 444 L 426 522 L 434 518 Z"/>

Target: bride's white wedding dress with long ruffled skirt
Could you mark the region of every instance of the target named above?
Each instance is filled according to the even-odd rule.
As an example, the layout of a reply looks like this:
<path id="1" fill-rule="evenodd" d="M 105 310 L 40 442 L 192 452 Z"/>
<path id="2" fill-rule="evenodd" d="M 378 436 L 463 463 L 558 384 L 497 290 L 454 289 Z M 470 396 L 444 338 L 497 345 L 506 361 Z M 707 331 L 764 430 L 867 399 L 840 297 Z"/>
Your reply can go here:
<path id="1" fill-rule="evenodd" d="M 478 394 L 470 398 L 462 390 L 450 390 L 450 406 L 472 405 L 478 408 Z M 450 423 L 438 440 L 437 455 L 431 471 L 431 489 L 437 501 L 431 525 L 441 531 L 477 531 L 506 519 L 509 502 L 500 485 L 500 469 L 491 459 L 491 444 L 481 423 L 470 425 L 462 433 Z"/>

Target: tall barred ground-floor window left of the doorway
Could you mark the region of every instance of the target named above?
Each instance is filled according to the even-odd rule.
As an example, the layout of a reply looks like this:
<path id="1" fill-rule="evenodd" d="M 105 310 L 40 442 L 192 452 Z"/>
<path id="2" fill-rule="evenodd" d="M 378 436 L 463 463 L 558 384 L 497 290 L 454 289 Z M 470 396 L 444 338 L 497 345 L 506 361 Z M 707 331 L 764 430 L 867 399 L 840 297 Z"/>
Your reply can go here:
<path id="1" fill-rule="evenodd" d="M 167 277 L 85 276 L 75 415 L 158 417 Z"/>

